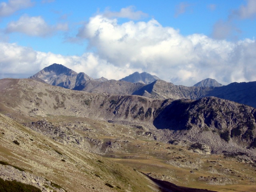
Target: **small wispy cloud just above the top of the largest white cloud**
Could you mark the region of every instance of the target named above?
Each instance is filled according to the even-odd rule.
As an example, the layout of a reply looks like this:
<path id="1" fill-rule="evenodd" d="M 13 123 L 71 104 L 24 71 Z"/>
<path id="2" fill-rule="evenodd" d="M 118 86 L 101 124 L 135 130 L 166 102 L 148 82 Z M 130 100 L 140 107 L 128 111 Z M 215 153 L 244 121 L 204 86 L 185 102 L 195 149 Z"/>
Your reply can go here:
<path id="1" fill-rule="evenodd" d="M 142 17 L 147 17 L 148 14 L 143 13 L 142 11 L 135 11 L 134 6 L 128 6 L 126 8 L 122 8 L 120 12 L 111 12 L 110 10 L 106 10 L 103 14 L 105 17 L 120 17 L 120 18 L 128 18 L 131 20 L 139 20 Z"/>

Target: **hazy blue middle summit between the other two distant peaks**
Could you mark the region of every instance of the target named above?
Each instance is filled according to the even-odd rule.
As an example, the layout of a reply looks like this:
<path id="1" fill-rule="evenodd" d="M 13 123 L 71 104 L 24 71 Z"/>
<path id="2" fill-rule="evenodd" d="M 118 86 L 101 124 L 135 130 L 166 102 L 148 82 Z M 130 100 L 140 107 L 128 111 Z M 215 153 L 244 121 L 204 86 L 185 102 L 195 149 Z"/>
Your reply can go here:
<path id="1" fill-rule="evenodd" d="M 158 79 L 160 79 L 160 78 L 157 76 L 152 76 L 151 74 L 146 73 L 146 72 L 143 72 L 143 73 L 135 72 L 129 76 L 126 76 L 125 78 L 120 79 L 120 80 L 128 81 L 131 83 L 150 84 Z"/>

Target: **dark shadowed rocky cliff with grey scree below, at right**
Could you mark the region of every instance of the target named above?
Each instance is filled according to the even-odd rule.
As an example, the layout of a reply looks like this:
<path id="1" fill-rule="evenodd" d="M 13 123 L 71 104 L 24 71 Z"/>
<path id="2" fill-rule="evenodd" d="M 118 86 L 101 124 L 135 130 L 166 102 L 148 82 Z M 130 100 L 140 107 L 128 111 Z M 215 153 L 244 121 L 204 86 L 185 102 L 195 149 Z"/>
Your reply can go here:
<path id="1" fill-rule="evenodd" d="M 153 123 L 157 128 L 179 132 L 176 138 L 182 133 L 179 140 L 186 138 L 206 144 L 217 153 L 235 153 L 255 147 L 255 118 L 254 108 L 216 97 L 205 97 L 196 101 L 176 100 L 164 108 Z M 225 150 L 227 146 L 230 148 Z"/>

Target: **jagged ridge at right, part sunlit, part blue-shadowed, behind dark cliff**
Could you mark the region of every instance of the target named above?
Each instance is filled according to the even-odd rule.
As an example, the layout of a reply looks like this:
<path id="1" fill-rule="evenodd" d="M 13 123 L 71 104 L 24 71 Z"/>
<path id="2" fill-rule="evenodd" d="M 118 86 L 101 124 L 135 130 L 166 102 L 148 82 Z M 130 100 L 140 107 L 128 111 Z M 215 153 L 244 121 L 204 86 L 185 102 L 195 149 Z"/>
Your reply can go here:
<path id="1" fill-rule="evenodd" d="M 186 87 L 157 80 L 134 91 L 133 94 L 155 99 L 200 99 L 204 96 L 215 96 L 256 107 L 256 81 L 235 82 L 221 87 Z"/>

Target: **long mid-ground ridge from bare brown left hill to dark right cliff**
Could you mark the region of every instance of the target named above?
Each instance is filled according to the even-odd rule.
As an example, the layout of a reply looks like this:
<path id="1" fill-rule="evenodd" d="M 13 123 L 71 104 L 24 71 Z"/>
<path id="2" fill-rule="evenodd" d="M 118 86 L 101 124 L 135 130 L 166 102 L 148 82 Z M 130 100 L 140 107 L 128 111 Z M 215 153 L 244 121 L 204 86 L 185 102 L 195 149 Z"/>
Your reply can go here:
<path id="1" fill-rule="evenodd" d="M 154 132 L 154 140 L 205 143 L 216 154 L 243 151 L 256 155 L 256 151 L 250 150 L 256 147 L 256 110 L 236 102 L 212 96 L 198 100 L 160 100 L 87 93 L 29 79 L 2 79 L 0 83 L 0 96 L 5 101 L 1 102 L 1 110 L 13 108 L 30 116 L 65 114 L 143 125 L 138 130 L 140 134 Z M 15 97 L 20 99 L 14 100 Z"/>

